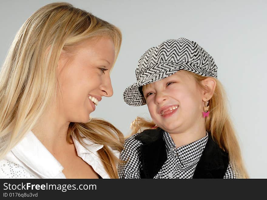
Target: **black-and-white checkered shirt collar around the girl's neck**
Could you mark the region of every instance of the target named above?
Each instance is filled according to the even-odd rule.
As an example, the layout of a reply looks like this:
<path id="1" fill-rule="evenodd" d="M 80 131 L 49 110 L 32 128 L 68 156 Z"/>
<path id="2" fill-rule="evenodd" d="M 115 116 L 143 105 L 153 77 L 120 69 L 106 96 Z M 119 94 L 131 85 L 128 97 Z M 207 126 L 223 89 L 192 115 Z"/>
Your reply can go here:
<path id="1" fill-rule="evenodd" d="M 202 152 L 208 141 L 208 132 L 206 132 L 206 136 L 203 138 L 195 142 L 191 142 L 190 144 L 178 147 L 177 149 L 168 132 L 164 131 L 163 139 L 166 143 L 167 154 L 174 152 L 179 157 L 182 165 L 184 167 L 188 167 L 200 160 Z"/>

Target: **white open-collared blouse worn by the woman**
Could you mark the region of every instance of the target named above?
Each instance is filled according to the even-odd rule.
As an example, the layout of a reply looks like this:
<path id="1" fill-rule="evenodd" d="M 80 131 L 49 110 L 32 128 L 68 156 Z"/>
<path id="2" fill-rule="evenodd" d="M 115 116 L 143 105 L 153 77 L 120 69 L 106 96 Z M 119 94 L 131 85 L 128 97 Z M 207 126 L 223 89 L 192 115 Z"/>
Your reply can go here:
<path id="1" fill-rule="evenodd" d="M 73 142 L 79 157 L 102 178 L 110 178 L 97 152 L 103 145 L 84 139 L 88 145 L 86 149 L 77 140 L 73 139 Z M 113 153 L 117 157 L 120 155 L 116 150 Z M 0 178 L 66 178 L 63 169 L 31 131 L 0 160 Z"/>

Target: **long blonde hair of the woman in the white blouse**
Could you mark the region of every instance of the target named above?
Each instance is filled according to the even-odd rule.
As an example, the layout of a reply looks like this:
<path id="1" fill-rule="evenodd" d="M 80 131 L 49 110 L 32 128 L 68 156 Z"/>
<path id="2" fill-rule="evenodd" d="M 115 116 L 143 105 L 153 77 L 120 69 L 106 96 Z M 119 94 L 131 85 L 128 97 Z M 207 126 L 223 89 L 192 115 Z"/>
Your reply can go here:
<path id="1" fill-rule="evenodd" d="M 77 47 L 92 37 L 108 36 L 120 51 L 121 32 L 112 24 L 69 3 L 43 6 L 22 25 L 15 36 L 0 74 L 0 159 L 32 130 L 57 93 L 56 68 L 61 51 Z M 104 147 L 98 151 L 111 178 L 118 178 L 123 135 L 110 123 L 92 119 L 70 123 L 70 135 L 83 143 L 89 138 Z"/>

